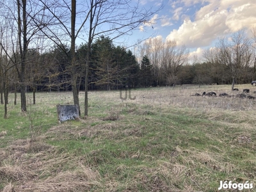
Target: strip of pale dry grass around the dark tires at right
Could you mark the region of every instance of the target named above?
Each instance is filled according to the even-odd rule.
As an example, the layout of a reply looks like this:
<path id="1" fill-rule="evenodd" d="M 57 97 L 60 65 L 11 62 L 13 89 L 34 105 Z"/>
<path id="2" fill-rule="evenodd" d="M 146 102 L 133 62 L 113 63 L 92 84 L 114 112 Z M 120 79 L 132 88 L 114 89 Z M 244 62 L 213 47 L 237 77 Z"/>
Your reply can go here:
<path id="1" fill-rule="evenodd" d="M 241 85 L 243 86 L 243 85 Z M 254 90 L 255 88 L 253 88 Z M 242 90 L 242 88 L 240 88 Z M 253 92 L 251 89 L 251 92 Z M 216 92 L 217 97 L 196 97 L 191 96 L 195 93 L 202 94 L 203 92 Z M 220 93 L 228 93 L 235 97 L 218 97 Z M 243 92 L 243 91 L 242 91 Z M 240 99 L 236 97 L 239 92 L 232 92 L 227 89 L 227 86 L 188 86 L 181 88 L 154 88 L 148 90 L 139 90 L 132 92 L 136 95 L 136 100 L 128 100 L 129 103 L 136 102 L 141 105 L 152 105 L 164 108 L 166 106 L 187 107 L 195 109 L 228 109 L 228 110 L 255 110 L 256 102 L 253 99 Z M 143 95 L 145 98 L 143 98 Z M 250 95 L 256 96 L 255 93 Z"/>

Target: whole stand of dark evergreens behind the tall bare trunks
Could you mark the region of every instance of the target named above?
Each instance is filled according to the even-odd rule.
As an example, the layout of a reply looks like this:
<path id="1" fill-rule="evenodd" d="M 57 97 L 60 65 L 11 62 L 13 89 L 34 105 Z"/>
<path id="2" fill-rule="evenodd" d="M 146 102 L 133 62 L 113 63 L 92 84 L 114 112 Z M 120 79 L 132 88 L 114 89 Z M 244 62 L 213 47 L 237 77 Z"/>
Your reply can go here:
<path id="1" fill-rule="evenodd" d="M 77 71 L 77 88 L 84 90 L 84 78 L 86 72 L 87 44 L 81 44 L 76 50 L 76 65 L 72 66 Z M 51 92 L 51 90 L 70 91 L 70 48 L 54 46 L 50 51 L 39 54 L 31 59 L 28 65 L 31 74 L 26 81 L 31 85 L 28 91 L 36 88 L 36 91 Z M 31 53 L 32 55 L 32 53 Z M 33 54 L 35 56 L 35 54 Z M 101 36 L 92 44 L 89 62 L 89 90 L 113 90 L 120 88 L 135 88 L 138 86 L 140 67 L 135 56 L 124 47 L 115 46 L 109 37 Z M 36 62 L 35 63 L 35 59 Z M 37 74 L 33 65 L 40 66 Z M 36 75 L 36 76 L 35 76 Z M 40 78 L 34 78 L 34 77 Z M 12 89 L 12 88 L 11 88 Z"/>

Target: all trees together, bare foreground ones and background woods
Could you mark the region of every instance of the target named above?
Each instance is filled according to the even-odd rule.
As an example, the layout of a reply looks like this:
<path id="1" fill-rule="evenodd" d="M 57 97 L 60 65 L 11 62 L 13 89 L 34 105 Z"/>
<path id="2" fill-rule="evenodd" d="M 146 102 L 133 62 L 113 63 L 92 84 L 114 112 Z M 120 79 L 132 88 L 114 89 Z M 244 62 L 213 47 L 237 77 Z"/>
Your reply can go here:
<path id="1" fill-rule="evenodd" d="M 8 93 L 20 93 L 26 112 L 26 92 L 71 90 L 79 106 L 84 91 L 176 84 L 248 83 L 255 79 L 255 30 L 220 38 L 200 62 L 189 63 L 189 51 L 175 40 L 149 38 L 136 52 L 113 44 L 157 13 L 130 6 L 133 1 L 10 0 L 0 3 L 0 93 L 7 114 Z M 79 7 L 79 9 L 77 9 Z M 77 19 L 78 18 L 78 19 Z M 76 45 L 77 39 L 82 40 Z M 137 59 L 139 58 L 139 59 Z"/>

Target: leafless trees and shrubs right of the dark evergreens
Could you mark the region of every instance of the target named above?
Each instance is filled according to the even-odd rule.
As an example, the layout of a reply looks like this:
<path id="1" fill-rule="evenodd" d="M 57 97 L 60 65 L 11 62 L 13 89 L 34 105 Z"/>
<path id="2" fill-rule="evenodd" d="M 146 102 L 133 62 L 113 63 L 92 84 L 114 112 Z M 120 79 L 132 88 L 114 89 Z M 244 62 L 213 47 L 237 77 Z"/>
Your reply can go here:
<path id="1" fill-rule="evenodd" d="M 206 49 L 202 58 L 189 62 L 186 47 L 175 40 L 163 41 L 159 36 L 140 45 L 139 58 L 147 56 L 152 66 L 151 86 L 175 84 L 234 84 L 256 79 L 256 29 L 241 29 L 219 38 L 214 47 Z M 191 58 L 190 58 L 191 60 Z"/>

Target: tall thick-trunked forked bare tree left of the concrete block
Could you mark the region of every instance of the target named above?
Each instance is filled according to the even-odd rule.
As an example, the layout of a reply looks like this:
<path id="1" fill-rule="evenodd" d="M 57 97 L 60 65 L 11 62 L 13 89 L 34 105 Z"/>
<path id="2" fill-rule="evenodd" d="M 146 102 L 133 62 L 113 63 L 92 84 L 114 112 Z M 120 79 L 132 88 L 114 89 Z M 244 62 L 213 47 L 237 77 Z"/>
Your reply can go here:
<path id="1" fill-rule="evenodd" d="M 8 37 L 9 49 L 1 44 L 4 54 L 12 61 L 17 69 L 20 86 L 21 110 L 26 111 L 26 62 L 29 47 L 32 48 L 34 38 L 39 28 L 34 19 L 44 18 L 43 9 L 32 0 L 17 0 L 0 3 L 0 17 L 8 22 L 10 36 Z"/>

